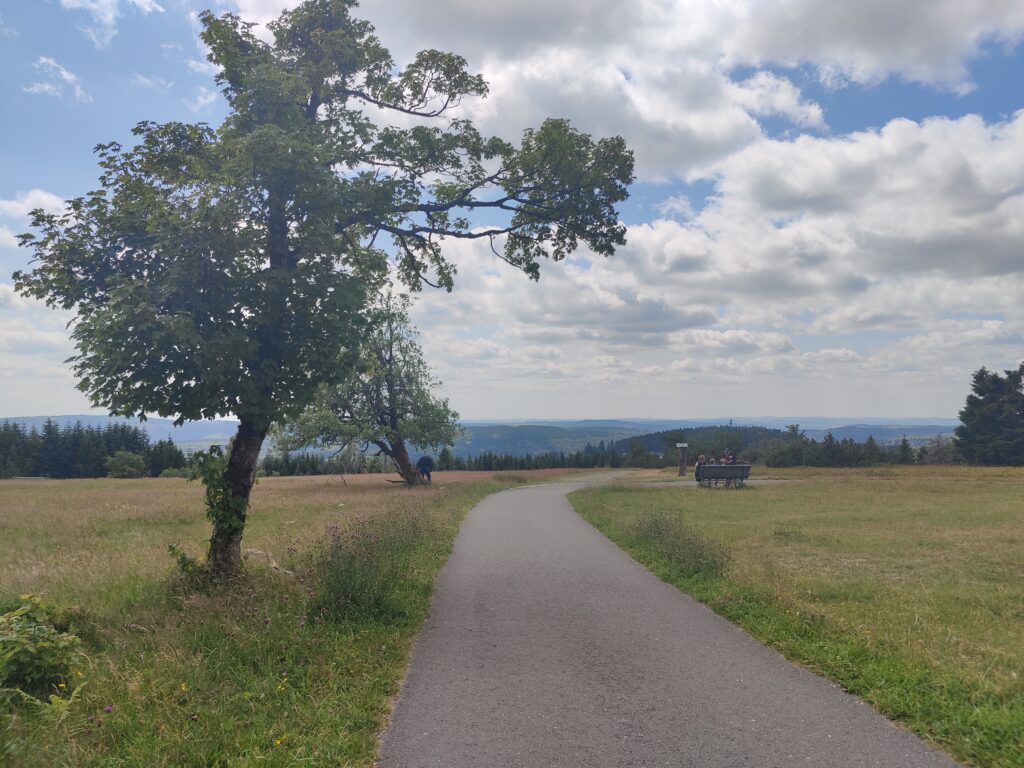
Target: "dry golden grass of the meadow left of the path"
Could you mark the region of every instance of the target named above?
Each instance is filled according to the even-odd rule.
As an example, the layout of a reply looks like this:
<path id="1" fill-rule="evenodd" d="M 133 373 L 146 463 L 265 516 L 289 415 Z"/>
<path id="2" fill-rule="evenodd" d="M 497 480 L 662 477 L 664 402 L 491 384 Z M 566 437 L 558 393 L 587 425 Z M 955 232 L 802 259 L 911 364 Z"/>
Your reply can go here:
<path id="1" fill-rule="evenodd" d="M 566 473 L 515 474 L 541 482 Z M 380 474 L 261 478 L 243 548 L 284 563 L 331 523 L 413 508 L 432 492 L 508 474 L 435 472 L 432 486 L 416 488 Z M 202 484 L 179 478 L 2 480 L 0 510 L 0 595 L 41 592 L 90 607 L 103 607 L 96 602 L 104 595 L 124 599 L 133 582 L 166 573 L 168 545 L 204 555 L 210 535 Z M 105 589 L 115 582 L 121 589 Z"/>

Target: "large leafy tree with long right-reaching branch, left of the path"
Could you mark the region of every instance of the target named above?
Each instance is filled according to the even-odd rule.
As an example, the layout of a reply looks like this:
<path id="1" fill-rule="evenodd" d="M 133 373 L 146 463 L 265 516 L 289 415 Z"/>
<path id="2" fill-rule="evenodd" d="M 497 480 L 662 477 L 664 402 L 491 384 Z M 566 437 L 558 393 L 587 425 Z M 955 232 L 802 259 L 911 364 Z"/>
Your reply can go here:
<path id="1" fill-rule="evenodd" d="M 518 146 L 484 137 L 453 117 L 486 93 L 482 78 L 437 50 L 397 69 L 354 6 L 307 0 L 270 24 L 271 42 L 201 14 L 229 106 L 220 127 L 139 123 L 134 146 L 97 147 L 99 190 L 34 212 L 22 238 L 33 267 L 15 285 L 76 311 L 73 361 L 96 406 L 239 418 L 222 487 L 208 487 L 219 573 L 240 567 L 270 424 L 343 373 L 389 261 L 411 287 L 451 289 L 446 240 L 489 242 L 535 279 L 581 242 L 603 255 L 624 243 L 622 138 L 562 120 Z"/>

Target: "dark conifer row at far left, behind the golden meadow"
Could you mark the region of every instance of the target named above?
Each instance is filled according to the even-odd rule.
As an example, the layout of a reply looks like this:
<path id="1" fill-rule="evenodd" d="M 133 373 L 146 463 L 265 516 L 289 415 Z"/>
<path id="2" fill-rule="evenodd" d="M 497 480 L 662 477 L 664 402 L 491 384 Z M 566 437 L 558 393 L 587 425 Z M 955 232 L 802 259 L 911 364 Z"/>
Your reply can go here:
<path id="1" fill-rule="evenodd" d="M 42 429 L 0 422 L 0 477 L 157 477 L 181 469 L 185 455 L 169 438 L 151 442 L 131 424 L 61 427 L 47 419 Z"/>

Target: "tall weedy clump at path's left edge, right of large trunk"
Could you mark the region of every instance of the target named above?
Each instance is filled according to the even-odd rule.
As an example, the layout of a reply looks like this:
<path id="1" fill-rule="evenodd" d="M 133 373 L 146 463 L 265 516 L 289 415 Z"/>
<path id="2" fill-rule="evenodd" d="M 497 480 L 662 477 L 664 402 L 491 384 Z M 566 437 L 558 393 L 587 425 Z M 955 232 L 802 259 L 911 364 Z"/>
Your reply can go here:
<path id="1" fill-rule="evenodd" d="M 318 585 L 315 615 L 334 621 L 352 615 L 400 616 L 416 552 L 432 534 L 422 515 L 391 514 L 332 525 L 312 559 Z"/>

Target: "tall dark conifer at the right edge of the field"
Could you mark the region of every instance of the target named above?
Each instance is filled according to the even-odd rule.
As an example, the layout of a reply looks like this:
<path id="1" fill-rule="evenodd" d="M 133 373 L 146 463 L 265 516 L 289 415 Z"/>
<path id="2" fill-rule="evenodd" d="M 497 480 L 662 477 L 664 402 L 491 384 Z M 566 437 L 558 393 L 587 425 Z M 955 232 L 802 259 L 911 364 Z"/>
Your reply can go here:
<path id="1" fill-rule="evenodd" d="M 1024 362 L 1016 371 L 980 368 L 953 441 L 969 462 L 1024 465 Z"/>

